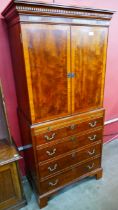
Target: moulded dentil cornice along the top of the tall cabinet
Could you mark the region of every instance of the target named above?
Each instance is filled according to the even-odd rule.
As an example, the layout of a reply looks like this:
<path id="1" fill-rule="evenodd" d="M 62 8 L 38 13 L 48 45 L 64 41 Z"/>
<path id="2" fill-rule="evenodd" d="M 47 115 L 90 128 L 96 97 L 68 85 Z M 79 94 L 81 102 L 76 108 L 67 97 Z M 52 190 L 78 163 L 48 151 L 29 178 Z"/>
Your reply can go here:
<path id="1" fill-rule="evenodd" d="M 40 3 L 33 0 L 12 0 L 2 12 L 2 15 L 11 20 L 18 15 L 48 15 L 75 18 L 91 18 L 100 20 L 110 20 L 114 11 L 93 9 L 87 7 L 64 6 L 56 4 Z"/>

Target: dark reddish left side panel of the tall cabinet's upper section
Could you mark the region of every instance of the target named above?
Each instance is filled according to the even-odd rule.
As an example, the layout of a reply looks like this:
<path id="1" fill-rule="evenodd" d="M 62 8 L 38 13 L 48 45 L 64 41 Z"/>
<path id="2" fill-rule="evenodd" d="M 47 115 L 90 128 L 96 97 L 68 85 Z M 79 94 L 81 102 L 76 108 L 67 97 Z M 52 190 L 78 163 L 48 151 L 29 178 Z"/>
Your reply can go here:
<path id="1" fill-rule="evenodd" d="M 9 40 L 12 55 L 12 64 L 15 78 L 18 106 L 30 120 L 30 108 L 25 75 L 24 57 L 22 52 L 22 40 L 20 25 L 16 24 L 9 28 Z"/>

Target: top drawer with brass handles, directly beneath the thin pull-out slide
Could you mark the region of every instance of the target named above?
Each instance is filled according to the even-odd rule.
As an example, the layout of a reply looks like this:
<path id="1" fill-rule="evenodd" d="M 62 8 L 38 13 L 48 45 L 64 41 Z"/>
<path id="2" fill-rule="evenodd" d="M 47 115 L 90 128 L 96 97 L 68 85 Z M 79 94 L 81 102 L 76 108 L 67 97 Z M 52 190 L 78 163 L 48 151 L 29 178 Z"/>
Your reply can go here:
<path id="1" fill-rule="evenodd" d="M 49 143 L 57 139 L 64 138 L 66 136 L 80 133 L 82 131 L 92 130 L 93 128 L 97 128 L 99 126 L 103 126 L 103 117 L 92 120 L 89 119 L 84 122 L 79 122 L 78 124 L 72 123 L 67 127 L 65 126 L 57 130 L 36 135 L 35 144 L 38 146 L 41 144 Z"/>

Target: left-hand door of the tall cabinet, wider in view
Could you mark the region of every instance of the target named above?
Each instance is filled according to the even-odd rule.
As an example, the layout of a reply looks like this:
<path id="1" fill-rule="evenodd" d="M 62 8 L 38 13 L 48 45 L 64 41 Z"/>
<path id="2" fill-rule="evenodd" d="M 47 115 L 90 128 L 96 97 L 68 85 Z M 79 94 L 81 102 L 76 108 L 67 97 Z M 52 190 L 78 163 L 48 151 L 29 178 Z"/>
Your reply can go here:
<path id="1" fill-rule="evenodd" d="M 70 27 L 23 24 L 22 40 L 32 122 L 69 115 Z"/>

